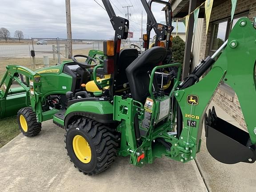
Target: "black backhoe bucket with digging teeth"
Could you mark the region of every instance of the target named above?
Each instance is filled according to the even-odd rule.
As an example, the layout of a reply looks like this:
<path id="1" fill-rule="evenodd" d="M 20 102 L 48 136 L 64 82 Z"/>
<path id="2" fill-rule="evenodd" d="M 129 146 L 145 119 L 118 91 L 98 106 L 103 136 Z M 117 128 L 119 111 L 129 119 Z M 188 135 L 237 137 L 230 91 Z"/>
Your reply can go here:
<path id="1" fill-rule="evenodd" d="M 256 160 L 255 145 L 244 130 L 217 117 L 215 108 L 204 116 L 206 146 L 216 160 L 224 164 L 253 163 Z"/>

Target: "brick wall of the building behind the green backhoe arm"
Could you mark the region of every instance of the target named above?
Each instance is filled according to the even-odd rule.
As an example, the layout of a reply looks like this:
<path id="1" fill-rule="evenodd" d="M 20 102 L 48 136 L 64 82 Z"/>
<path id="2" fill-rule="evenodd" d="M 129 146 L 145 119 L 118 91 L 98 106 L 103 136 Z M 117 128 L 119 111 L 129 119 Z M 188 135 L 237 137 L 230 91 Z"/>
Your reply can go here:
<path id="1" fill-rule="evenodd" d="M 231 8 L 231 0 L 225 1 L 217 7 L 212 8 L 207 36 L 203 35 L 201 40 L 200 59 L 204 59 L 209 55 L 212 22 L 229 17 L 231 15 Z M 252 20 L 253 17 L 256 16 L 256 0 L 237 0 L 235 14 L 243 13 L 246 11 L 249 11 L 249 19 Z M 203 34 L 205 33 L 206 21 L 204 20 Z M 222 90 L 222 88 L 218 88 L 212 100 L 218 104 L 220 108 L 232 116 L 242 127 L 246 128 L 244 116 L 241 112 L 240 104 L 236 94 L 231 96 Z"/>

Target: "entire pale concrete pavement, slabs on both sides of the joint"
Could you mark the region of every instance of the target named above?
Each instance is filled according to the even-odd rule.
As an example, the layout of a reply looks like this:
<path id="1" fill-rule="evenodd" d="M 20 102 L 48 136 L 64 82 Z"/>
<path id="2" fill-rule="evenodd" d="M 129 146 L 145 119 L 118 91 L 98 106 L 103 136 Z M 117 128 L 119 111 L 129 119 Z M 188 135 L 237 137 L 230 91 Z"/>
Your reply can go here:
<path id="1" fill-rule="evenodd" d="M 214 105 L 219 117 L 239 126 Z M 64 146 L 64 130 L 51 120 L 43 123 L 42 132 L 36 137 L 20 134 L 14 138 L 0 148 L 0 191 L 206 192 L 207 188 L 210 192 L 256 191 L 256 163 L 218 162 L 207 151 L 204 131 L 196 161 L 182 164 L 164 157 L 137 168 L 129 164 L 129 158 L 118 157 L 107 171 L 97 176 L 78 172 Z"/>

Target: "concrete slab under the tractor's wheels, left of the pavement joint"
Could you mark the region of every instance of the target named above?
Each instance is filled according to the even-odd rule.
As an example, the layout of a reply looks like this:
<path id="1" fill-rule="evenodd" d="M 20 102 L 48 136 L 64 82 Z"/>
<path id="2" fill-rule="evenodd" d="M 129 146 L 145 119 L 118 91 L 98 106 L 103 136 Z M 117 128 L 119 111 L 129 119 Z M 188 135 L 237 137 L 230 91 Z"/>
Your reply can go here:
<path id="1" fill-rule="evenodd" d="M 143 168 L 116 162 L 96 176 L 78 172 L 64 148 L 64 130 L 52 121 L 38 136 L 19 135 L 0 148 L 0 192 L 206 192 L 195 161 L 166 157 Z"/>

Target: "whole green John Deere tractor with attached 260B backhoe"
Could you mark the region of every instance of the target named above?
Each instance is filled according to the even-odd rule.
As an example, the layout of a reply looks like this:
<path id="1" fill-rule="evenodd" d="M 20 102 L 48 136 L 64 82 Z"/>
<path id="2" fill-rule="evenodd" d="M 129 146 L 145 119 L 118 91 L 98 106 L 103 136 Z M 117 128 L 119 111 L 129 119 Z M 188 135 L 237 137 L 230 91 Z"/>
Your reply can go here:
<path id="1" fill-rule="evenodd" d="M 93 81 L 77 80 L 78 75 L 72 75 L 77 66 L 72 62 L 37 72 L 7 67 L 0 84 L 1 108 L 11 106 L 12 100 L 14 103 L 20 93 L 24 94 L 19 107 L 27 107 L 17 116 L 24 135 L 36 135 L 41 122 L 53 118 L 66 131 L 66 148 L 75 167 L 95 175 L 107 169 L 116 156 L 130 156 L 130 163 L 138 167 L 161 156 L 183 163 L 193 160 L 200 152 L 204 122 L 207 148 L 216 160 L 226 164 L 255 162 L 256 29 L 251 21 L 241 18 L 220 49 L 180 81 L 179 63 L 161 64 L 167 56 L 165 48 L 156 46 L 140 56 L 134 48 L 120 50 L 121 40 L 128 36 L 129 21 L 116 16 L 109 0 L 103 4 L 115 40 L 104 42 L 104 61 L 93 72 L 88 68 L 93 66 L 89 64 L 93 58 L 78 63 Z M 179 68 L 178 75 L 166 93 L 163 87 L 172 78 L 159 69 L 174 66 Z M 97 77 L 100 71 L 104 78 Z M 20 73 L 26 76 L 25 81 L 19 79 Z M 13 80 L 23 89 L 12 94 L 9 87 Z M 214 108 L 206 115 L 222 80 L 235 90 L 248 132 L 220 119 Z M 13 97 L 4 97 L 8 94 Z"/>

